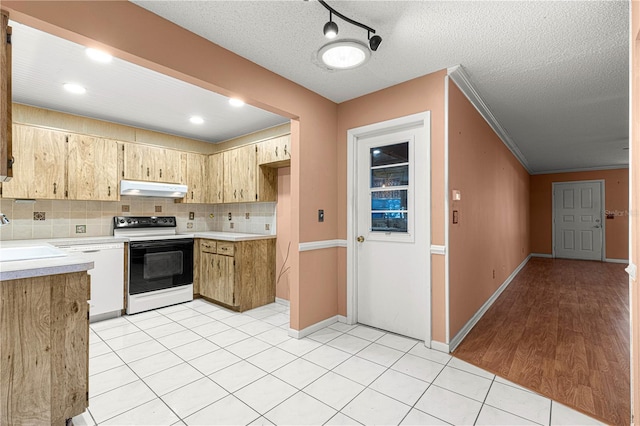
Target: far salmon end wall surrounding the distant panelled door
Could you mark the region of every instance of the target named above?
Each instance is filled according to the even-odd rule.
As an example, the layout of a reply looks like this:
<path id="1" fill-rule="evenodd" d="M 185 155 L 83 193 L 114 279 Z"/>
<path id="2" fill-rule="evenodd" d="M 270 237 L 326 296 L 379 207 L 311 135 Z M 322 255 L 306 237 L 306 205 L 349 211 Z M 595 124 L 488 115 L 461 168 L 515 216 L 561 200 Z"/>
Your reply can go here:
<path id="1" fill-rule="evenodd" d="M 553 182 L 604 179 L 605 251 L 608 259 L 629 258 L 629 169 L 553 173 L 531 176 L 531 252 L 553 253 Z"/>

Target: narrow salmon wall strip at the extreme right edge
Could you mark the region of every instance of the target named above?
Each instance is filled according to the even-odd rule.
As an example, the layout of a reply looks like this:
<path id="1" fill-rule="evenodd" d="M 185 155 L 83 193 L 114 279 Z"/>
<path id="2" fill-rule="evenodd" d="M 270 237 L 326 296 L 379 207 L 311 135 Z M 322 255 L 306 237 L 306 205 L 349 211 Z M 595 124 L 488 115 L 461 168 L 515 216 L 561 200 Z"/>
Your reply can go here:
<path id="1" fill-rule="evenodd" d="M 640 266 L 640 1 L 631 2 L 631 263 Z M 631 280 L 631 401 L 634 423 L 640 424 L 640 291 L 638 279 Z"/>

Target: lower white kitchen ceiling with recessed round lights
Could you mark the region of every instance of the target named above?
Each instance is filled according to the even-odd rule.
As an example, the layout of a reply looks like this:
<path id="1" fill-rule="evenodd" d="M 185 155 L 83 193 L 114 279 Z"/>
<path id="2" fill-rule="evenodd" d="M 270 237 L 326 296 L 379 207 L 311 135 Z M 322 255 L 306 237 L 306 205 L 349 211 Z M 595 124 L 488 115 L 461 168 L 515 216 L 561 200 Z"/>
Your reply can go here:
<path id="1" fill-rule="evenodd" d="M 229 98 L 118 58 L 90 60 L 85 48 L 42 31 L 13 27 L 13 101 L 70 114 L 220 142 L 289 120 L 259 108 L 235 108 Z M 79 83 L 87 93 L 63 90 Z M 194 125 L 193 115 L 205 122 Z"/>

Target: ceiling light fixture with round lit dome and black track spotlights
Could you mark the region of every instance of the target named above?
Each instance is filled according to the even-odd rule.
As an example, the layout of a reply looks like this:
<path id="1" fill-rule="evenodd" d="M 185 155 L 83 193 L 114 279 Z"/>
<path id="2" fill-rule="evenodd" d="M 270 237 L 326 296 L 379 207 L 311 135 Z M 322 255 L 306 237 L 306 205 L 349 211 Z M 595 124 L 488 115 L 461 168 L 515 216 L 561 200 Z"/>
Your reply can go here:
<path id="1" fill-rule="evenodd" d="M 338 25 L 333 22 L 333 15 L 338 16 L 344 21 L 367 30 L 367 40 L 369 41 L 369 49 L 356 40 L 336 40 L 323 46 L 318 52 L 318 57 L 331 69 L 351 69 L 355 68 L 371 55 L 371 51 L 375 52 L 382 43 L 382 37 L 375 34 L 376 30 L 358 21 L 344 16 L 334 8 L 329 6 L 324 0 L 318 0 L 329 11 L 329 22 L 324 24 L 324 36 L 333 39 L 338 35 Z"/>

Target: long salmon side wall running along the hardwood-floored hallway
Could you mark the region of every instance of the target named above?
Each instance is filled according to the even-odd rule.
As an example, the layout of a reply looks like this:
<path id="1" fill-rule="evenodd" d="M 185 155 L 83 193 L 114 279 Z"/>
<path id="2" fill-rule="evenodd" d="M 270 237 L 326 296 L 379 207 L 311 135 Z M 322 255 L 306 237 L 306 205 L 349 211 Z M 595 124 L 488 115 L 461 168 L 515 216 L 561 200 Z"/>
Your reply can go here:
<path id="1" fill-rule="evenodd" d="M 529 174 L 453 82 L 448 130 L 453 338 L 529 255 Z"/>

